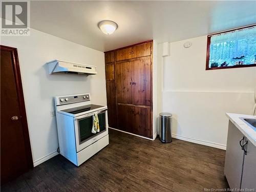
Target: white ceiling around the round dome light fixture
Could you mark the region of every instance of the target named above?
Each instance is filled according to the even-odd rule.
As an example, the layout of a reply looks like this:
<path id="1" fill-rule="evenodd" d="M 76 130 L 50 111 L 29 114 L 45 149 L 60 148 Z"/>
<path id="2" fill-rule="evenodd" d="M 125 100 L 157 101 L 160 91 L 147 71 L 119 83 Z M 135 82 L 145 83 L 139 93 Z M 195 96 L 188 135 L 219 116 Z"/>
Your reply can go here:
<path id="1" fill-rule="evenodd" d="M 177 41 L 256 23 L 256 1 L 31 1 L 31 28 L 100 51 Z M 113 20 L 112 35 L 97 27 Z"/>

